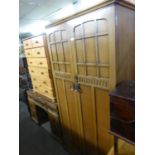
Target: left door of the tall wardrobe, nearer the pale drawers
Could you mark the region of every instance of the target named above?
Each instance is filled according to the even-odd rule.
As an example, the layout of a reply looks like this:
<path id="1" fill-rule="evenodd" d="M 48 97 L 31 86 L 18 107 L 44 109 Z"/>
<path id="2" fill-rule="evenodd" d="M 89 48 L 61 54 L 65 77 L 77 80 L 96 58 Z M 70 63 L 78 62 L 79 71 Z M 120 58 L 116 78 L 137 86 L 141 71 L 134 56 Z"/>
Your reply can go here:
<path id="1" fill-rule="evenodd" d="M 70 47 L 70 29 L 57 26 L 49 34 L 51 63 L 57 102 L 61 117 L 64 143 L 74 152 L 81 152 L 80 121 L 77 96 L 73 86 L 73 60 Z"/>

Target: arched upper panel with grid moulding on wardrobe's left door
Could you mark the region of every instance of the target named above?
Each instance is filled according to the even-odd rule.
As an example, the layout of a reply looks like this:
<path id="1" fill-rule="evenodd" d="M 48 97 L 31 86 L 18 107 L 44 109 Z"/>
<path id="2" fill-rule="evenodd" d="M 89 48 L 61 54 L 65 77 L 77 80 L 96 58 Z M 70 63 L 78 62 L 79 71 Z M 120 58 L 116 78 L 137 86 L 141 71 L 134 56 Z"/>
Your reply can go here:
<path id="1" fill-rule="evenodd" d="M 54 72 L 71 73 L 71 53 L 67 38 L 66 30 L 57 30 L 49 35 Z"/>

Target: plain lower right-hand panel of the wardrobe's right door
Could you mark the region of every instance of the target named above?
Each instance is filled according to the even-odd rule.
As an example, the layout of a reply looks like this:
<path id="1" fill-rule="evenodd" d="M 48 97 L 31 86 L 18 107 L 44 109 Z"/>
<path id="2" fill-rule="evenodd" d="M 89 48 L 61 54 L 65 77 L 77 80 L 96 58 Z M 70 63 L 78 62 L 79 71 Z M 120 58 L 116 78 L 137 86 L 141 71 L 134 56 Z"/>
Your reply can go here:
<path id="1" fill-rule="evenodd" d="M 109 91 L 99 88 L 95 89 L 99 154 L 106 154 L 113 143 L 113 137 L 109 136 L 107 130 L 110 128 L 110 105 L 108 94 Z"/>

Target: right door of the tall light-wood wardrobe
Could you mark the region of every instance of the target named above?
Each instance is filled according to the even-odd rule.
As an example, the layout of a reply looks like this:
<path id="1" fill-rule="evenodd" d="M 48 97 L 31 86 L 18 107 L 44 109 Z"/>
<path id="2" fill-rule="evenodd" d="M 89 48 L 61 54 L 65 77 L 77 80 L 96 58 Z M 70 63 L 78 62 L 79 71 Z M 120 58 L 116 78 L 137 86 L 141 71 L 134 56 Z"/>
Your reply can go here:
<path id="1" fill-rule="evenodd" d="M 73 27 L 75 78 L 86 155 L 106 154 L 112 146 L 108 133 L 112 20 L 103 9 L 78 18 L 80 22 Z"/>

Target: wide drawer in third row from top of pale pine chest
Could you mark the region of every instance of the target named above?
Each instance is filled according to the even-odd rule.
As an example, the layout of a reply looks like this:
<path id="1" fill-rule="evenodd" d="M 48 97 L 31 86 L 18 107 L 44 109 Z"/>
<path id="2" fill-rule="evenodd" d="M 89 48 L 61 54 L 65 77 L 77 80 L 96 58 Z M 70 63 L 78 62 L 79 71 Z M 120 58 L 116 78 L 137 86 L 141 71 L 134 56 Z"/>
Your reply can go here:
<path id="1" fill-rule="evenodd" d="M 29 66 L 48 67 L 46 58 L 27 58 Z"/>

